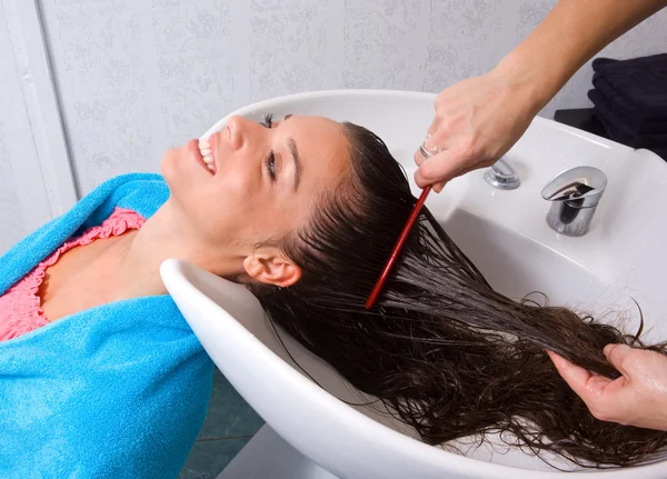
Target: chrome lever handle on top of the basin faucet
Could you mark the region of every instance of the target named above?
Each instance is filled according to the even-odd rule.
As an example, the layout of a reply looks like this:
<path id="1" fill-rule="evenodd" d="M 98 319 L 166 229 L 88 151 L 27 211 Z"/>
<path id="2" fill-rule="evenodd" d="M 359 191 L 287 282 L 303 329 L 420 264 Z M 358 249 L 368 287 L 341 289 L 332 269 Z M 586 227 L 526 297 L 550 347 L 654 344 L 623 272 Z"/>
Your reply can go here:
<path id="1" fill-rule="evenodd" d="M 596 206 L 607 188 L 607 176 L 593 167 L 577 167 L 558 174 L 542 189 L 548 201 L 566 201 L 578 208 Z"/>

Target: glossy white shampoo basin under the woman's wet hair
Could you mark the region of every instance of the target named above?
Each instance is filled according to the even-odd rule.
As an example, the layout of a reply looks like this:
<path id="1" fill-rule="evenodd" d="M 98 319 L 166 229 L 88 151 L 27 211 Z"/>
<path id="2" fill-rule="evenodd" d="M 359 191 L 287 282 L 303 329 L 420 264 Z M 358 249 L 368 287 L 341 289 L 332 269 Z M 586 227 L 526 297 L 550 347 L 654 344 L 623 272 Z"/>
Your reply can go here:
<path id="1" fill-rule="evenodd" d="M 322 114 L 378 133 L 411 180 L 412 153 L 432 119 L 434 94 L 322 91 L 272 99 L 233 114 Z M 221 128 L 226 117 L 207 134 Z M 506 156 L 521 186 L 496 190 L 475 171 L 450 182 L 427 206 L 448 233 L 505 295 L 539 290 L 551 303 L 589 310 L 631 310 L 639 301 L 648 339 L 667 338 L 667 164 L 648 151 L 541 118 Z M 546 223 L 544 186 L 561 171 L 593 166 L 609 180 L 590 231 L 568 238 Z M 412 184 L 414 193 L 418 189 Z M 518 450 L 459 441 L 465 455 L 427 446 L 364 398 L 319 358 L 279 332 L 239 285 L 172 259 L 162 265 L 167 289 L 218 368 L 267 425 L 219 479 L 532 479 L 593 473 L 596 478 L 666 478 L 667 462 L 618 470 L 563 472 Z M 609 316 L 608 318 L 613 318 Z M 629 322 L 635 328 L 637 322 Z M 342 399 L 342 400 L 341 400 Z M 567 468 L 565 463 L 560 467 Z"/>

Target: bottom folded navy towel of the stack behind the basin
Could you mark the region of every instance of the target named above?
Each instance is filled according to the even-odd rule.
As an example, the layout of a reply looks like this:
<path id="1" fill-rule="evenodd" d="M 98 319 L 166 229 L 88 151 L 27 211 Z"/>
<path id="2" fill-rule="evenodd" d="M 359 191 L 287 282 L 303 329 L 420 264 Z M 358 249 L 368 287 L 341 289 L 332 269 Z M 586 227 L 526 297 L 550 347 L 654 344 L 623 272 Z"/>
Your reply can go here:
<path id="1" fill-rule="evenodd" d="M 667 147 L 667 121 L 664 128 L 656 128 L 655 133 L 637 132 L 637 124 L 619 109 L 611 107 L 609 101 L 597 90 L 589 90 L 588 98 L 593 101 L 595 116 L 605 127 L 610 139 L 633 148 Z M 654 123 L 655 126 L 655 123 Z"/>

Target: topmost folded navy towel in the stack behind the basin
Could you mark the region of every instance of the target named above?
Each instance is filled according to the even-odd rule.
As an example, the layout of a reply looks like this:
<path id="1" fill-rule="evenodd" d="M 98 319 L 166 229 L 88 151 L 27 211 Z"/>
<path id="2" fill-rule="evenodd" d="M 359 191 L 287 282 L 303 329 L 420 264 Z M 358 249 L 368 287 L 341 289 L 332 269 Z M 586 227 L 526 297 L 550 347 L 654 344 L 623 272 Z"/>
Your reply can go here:
<path id="1" fill-rule="evenodd" d="M 667 120 L 667 53 L 593 61 L 594 86 L 635 121 Z"/>

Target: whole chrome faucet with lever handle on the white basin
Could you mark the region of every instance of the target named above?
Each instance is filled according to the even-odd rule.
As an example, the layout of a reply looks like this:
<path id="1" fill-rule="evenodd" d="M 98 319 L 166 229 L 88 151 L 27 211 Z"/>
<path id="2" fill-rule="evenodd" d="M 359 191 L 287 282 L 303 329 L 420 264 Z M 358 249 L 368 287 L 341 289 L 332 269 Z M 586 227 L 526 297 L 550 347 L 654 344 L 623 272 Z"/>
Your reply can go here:
<path id="1" fill-rule="evenodd" d="M 547 223 L 561 234 L 586 234 L 605 188 L 607 176 L 597 168 L 577 167 L 558 174 L 542 190 L 542 198 L 551 201 Z"/>

